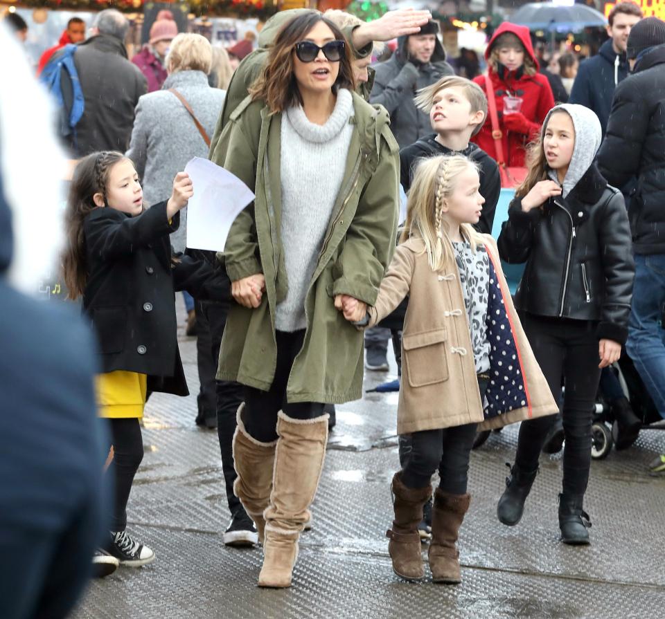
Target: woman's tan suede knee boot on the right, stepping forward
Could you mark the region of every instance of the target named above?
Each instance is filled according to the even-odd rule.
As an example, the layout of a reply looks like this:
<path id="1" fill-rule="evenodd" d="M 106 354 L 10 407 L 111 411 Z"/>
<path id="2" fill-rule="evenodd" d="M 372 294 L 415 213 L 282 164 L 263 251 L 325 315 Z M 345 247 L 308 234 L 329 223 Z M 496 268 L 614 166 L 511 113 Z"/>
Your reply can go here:
<path id="1" fill-rule="evenodd" d="M 277 448 L 270 504 L 265 510 L 263 567 L 258 586 L 291 586 L 298 539 L 310 519 L 328 442 L 328 415 L 299 420 L 282 411 L 277 418 Z"/>

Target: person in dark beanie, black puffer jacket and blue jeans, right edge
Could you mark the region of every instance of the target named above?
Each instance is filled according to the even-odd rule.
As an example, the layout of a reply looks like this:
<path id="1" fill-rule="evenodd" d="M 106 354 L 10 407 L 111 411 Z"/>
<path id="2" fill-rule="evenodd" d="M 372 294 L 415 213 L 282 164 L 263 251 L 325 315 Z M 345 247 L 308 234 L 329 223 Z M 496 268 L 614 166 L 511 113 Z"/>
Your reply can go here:
<path id="1" fill-rule="evenodd" d="M 614 93 L 607 136 L 598 165 L 612 185 L 633 176 L 628 208 L 635 252 L 626 351 L 665 418 L 665 22 L 648 17 L 628 38 L 633 75 Z"/>

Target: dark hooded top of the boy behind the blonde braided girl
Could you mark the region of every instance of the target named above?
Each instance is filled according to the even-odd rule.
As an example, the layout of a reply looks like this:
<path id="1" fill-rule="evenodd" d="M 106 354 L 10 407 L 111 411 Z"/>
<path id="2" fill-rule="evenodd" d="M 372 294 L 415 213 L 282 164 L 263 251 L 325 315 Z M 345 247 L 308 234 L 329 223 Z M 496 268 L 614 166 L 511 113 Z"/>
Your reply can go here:
<path id="1" fill-rule="evenodd" d="M 414 179 L 416 165 L 420 159 L 433 157 L 436 155 L 459 154 L 475 161 L 480 167 L 480 194 L 485 198 L 483 212 L 480 221 L 475 225 L 478 232 L 492 234 L 492 225 L 494 223 L 494 213 L 499 201 L 501 192 L 501 176 L 499 176 L 499 167 L 497 162 L 491 158 L 481 147 L 470 143 L 468 147 L 461 151 L 452 151 L 451 149 L 439 144 L 436 141 L 436 133 L 418 140 L 400 150 L 400 183 L 405 192 L 409 191 L 411 181 Z M 401 222 L 400 222 L 401 223 Z"/>

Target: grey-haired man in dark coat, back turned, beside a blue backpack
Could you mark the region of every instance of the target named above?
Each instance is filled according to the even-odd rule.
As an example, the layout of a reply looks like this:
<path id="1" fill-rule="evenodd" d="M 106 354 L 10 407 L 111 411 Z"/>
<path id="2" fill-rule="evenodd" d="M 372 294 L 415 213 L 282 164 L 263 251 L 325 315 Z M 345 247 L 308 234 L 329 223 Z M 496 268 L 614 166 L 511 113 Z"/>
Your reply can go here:
<path id="1" fill-rule="evenodd" d="M 134 108 L 148 89 L 141 70 L 127 59 L 124 40 L 130 22 L 115 9 L 97 16 L 94 36 L 74 54 L 85 98 L 83 116 L 69 136 L 64 136 L 74 157 L 94 151 L 121 151 L 130 146 Z M 72 89 L 69 73 L 62 70 L 62 96 L 69 114 Z"/>

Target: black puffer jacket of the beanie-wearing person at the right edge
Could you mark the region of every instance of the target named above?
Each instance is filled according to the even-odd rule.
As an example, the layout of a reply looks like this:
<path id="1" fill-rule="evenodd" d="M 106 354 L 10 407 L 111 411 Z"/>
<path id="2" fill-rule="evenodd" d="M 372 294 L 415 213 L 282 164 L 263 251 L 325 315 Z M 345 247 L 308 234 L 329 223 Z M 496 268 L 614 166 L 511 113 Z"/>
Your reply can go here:
<path id="1" fill-rule="evenodd" d="M 637 176 L 628 205 L 633 248 L 665 253 L 665 45 L 639 59 L 614 91 L 598 166 L 612 185 Z"/>

